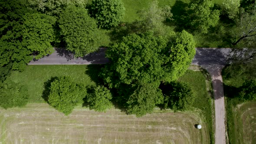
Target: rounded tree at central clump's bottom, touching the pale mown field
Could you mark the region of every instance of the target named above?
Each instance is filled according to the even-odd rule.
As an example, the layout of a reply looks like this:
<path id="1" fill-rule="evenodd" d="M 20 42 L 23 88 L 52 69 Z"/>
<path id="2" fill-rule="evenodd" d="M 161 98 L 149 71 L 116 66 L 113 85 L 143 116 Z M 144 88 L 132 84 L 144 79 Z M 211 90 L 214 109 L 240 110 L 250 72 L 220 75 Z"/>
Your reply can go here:
<path id="1" fill-rule="evenodd" d="M 136 89 L 127 101 L 128 114 L 137 117 L 151 113 L 157 104 L 163 101 L 161 90 L 152 84 L 136 85 Z"/>

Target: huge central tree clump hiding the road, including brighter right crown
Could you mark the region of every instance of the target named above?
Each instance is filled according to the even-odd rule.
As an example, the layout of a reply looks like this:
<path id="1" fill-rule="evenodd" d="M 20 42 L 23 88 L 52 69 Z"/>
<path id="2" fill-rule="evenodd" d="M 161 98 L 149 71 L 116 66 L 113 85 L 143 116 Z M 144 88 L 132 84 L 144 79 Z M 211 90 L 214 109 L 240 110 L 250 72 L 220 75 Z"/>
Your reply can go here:
<path id="1" fill-rule="evenodd" d="M 128 113 L 145 115 L 161 103 L 160 82 L 171 82 L 184 74 L 194 58 L 194 47 L 193 36 L 186 31 L 171 42 L 153 32 L 131 34 L 107 50 L 111 62 L 102 77 L 110 88 L 117 89 L 117 100 L 126 104 Z"/>

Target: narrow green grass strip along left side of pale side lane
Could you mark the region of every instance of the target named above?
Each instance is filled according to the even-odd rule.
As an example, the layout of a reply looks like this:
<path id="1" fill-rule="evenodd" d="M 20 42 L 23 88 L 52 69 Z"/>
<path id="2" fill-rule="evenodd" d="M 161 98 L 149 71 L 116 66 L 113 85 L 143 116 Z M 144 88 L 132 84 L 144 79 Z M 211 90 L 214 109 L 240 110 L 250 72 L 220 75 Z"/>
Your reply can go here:
<path id="1" fill-rule="evenodd" d="M 206 81 L 207 80 L 207 81 Z M 211 93 L 212 88 L 210 85 L 210 76 L 205 71 L 192 71 L 187 72 L 179 79 L 181 82 L 188 82 L 193 88 L 196 99 L 194 107 L 203 111 L 203 115 L 207 121 L 207 127 L 209 129 L 209 135 L 211 143 L 214 143 L 214 132 L 213 132 L 213 99 L 208 92 Z"/>

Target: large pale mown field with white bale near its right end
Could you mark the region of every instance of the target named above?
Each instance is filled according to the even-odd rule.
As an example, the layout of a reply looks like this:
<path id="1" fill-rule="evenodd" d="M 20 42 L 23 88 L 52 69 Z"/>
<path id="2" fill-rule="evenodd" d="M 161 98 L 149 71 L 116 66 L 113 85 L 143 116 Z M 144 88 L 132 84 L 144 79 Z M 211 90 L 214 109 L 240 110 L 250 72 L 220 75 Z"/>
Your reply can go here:
<path id="1" fill-rule="evenodd" d="M 194 124 L 202 124 L 198 130 Z M 136 118 L 117 109 L 106 113 L 76 108 L 71 115 L 45 103 L 0 109 L 2 144 L 208 144 L 207 127 L 197 112 L 155 110 Z"/>

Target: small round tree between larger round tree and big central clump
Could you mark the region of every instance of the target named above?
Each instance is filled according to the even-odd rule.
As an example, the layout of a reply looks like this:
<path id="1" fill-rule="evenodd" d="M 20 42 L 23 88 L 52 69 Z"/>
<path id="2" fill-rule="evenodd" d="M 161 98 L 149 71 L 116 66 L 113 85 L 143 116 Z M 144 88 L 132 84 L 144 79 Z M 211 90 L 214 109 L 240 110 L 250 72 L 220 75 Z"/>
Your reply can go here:
<path id="1" fill-rule="evenodd" d="M 106 111 L 112 107 L 111 100 L 112 95 L 108 88 L 104 86 L 97 86 L 92 94 L 87 96 L 87 102 L 89 103 L 90 109 L 95 111 Z"/>

